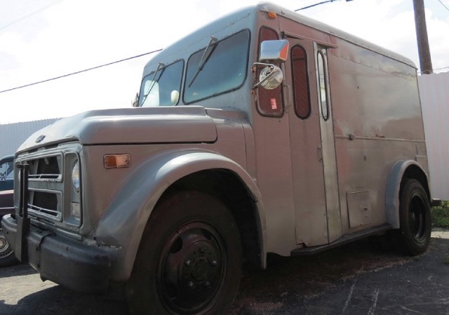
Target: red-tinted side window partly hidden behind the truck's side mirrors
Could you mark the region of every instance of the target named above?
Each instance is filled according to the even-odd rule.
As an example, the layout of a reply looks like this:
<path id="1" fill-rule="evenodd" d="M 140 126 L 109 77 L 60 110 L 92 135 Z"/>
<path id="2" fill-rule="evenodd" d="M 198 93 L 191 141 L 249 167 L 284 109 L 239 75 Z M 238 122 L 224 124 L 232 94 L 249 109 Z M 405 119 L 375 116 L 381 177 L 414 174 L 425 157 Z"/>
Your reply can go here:
<path id="1" fill-rule="evenodd" d="M 274 29 L 267 27 L 260 28 L 259 45 L 262 41 L 269 41 L 279 39 L 278 34 Z M 259 67 L 257 71 L 257 78 L 262 71 L 262 67 Z M 283 114 L 282 103 L 282 86 L 274 88 L 273 90 L 266 90 L 264 88 L 257 88 L 257 111 L 262 116 L 280 117 Z"/>

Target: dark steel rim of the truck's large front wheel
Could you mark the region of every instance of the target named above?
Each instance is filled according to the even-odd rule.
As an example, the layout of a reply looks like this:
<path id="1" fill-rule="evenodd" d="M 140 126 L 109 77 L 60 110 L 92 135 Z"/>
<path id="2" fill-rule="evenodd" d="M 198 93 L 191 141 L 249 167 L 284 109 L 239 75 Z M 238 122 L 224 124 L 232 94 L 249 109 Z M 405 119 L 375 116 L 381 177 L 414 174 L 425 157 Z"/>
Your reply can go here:
<path id="1" fill-rule="evenodd" d="M 190 222 L 173 232 L 162 248 L 156 283 L 173 313 L 196 314 L 215 300 L 225 276 L 222 237 L 206 222 Z"/>

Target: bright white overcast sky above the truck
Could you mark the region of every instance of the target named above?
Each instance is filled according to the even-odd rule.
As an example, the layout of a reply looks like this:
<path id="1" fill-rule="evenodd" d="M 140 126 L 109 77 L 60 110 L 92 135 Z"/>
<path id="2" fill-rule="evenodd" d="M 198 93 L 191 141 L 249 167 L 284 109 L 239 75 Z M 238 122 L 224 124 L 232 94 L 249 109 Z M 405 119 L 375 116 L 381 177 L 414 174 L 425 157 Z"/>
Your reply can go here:
<path id="1" fill-rule="evenodd" d="M 296 10 L 323 0 L 278 0 Z M 0 91 L 167 47 L 253 0 L 0 0 Z M 434 69 L 449 71 L 449 0 L 424 0 Z M 419 68 L 412 0 L 333 1 L 299 11 L 396 51 Z M 0 92 L 0 124 L 130 107 L 146 55 Z"/>

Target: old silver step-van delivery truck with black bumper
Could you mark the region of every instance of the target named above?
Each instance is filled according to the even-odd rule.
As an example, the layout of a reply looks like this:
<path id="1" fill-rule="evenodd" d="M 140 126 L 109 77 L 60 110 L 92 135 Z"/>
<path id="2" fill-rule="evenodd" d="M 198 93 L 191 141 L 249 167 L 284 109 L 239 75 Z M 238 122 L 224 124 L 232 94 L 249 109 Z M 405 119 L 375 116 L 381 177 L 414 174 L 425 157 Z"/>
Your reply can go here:
<path id="1" fill-rule="evenodd" d="M 387 232 L 411 255 L 429 244 L 401 55 L 260 4 L 156 55 L 136 106 L 62 119 L 15 154 L 2 227 L 43 280 L 123 285 L 133 314 L 226 314 L 242 260 Z"/>

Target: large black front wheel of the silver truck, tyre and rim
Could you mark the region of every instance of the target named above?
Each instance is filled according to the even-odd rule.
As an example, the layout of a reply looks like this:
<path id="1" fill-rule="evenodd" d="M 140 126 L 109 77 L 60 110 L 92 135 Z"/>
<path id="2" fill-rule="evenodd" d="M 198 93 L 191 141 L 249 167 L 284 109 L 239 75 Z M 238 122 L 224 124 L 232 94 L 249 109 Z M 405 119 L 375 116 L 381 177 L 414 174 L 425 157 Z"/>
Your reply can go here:
<path id="1" fill-rule="evenodd" d="M 126 293 L 131 314 L 227 314 L 241 241 L 225 205 L 200 192 L 162 201 L 145 227 Z"/>

